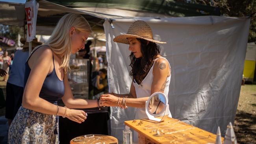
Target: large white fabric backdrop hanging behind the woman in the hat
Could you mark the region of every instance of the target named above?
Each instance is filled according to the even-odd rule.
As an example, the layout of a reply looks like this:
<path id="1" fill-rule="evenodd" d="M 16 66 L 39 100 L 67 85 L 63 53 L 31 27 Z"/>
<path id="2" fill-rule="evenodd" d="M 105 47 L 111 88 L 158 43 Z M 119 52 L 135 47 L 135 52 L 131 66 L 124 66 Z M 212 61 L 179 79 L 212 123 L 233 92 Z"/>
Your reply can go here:
<path id="1" fill-rule="evenodd" d="M 173 118 L 224 134 L 234 123 L 250 19 L 246 17 L 179 17 L 115 19 L 104 23 L 107 39 L 109 91 L 128 93 L 132 79 L 128 45 L 113 42 L 135 20 L 144 20 L 161 44 L 161 54 L 171 65 L 169 105 Z M 111 108 L 111 135 L 122 141 L 125 120 L 134 119 L 134 108 Z"/>

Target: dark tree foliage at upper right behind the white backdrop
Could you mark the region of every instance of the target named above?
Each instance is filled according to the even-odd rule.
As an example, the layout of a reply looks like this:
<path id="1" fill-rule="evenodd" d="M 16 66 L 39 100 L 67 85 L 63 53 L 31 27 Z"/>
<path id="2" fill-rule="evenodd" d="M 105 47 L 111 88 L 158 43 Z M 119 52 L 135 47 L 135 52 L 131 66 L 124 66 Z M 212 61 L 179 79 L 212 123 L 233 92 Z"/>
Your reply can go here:
<path id="1" fill-rule="evenodd" d="M 219 7 L 221 14 L 227 17 L 249 16 L 251 19 L 248 42 L 256 42 L 256 0 L 184 0 L 184 2 Z"/>

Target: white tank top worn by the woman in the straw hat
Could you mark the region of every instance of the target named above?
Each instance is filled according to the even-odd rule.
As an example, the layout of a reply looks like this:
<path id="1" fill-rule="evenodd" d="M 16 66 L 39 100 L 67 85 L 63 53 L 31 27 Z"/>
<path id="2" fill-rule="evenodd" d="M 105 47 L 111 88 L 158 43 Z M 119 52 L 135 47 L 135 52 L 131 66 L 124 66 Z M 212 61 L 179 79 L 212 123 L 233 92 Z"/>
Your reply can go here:
<path id="1" fill-rule="evenodd" d="M 141 85 L 138 85 L 136 82 L 133 81 L 133 85 L 135 87 L 135 91 L 136 91 L 136 96 L 137 98 L 143 98 L 143 97 L 149 97 L 151 95 L 151 85 L 153 82 L 153 68 L 155 65 L 155 61 L 159 58 L 164 58 L 164 57 L 158 57 L 154 60 L 154 64 L 153 66 L 150 68 L 147 76 L 143 79 L 143 81 L 141 82 Z M 166 59 L 166 58 L 164 58 Z M 167 59 L 166 59 L 167 60 Z M 168 60 L 167 60 L 168 61 Z M 171 72 L 171 66 L 170 63 L 168 61 L 169 67 L 170 67 L 170 72 Z M 165 90 L 164 90 L 164 94 L 167 96 L 168 99 L 168 92 L 169 92 L 169 85 L 170 85 L 170 80 L 171 80 L 171 74 L 169 77 L 167 77 L 166 80 L 166 85 L 165 85 Z M 169 101 L 169 100 L 168 100 Z M 148 118 L 146 112 L 145 112 L 145 107 L 143 108 L 137 108 L 136 112 L 135 112 L 135 119 L 143 119 L 143 118 Z"/>

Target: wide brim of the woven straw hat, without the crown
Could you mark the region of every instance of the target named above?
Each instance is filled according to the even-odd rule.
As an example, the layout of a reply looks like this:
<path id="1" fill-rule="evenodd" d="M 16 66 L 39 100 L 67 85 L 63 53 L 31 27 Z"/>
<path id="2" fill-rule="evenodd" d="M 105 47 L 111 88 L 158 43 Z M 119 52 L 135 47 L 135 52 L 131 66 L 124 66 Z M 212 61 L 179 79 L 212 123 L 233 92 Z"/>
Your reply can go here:
<path id="1" fill-rule="evenodd" d="M 129 44 L 129 42 L 127 40 L 127 38 L 129 38 L 129 37 L 135 37 L 135 38 L 145 39 L 147 41 L 151 41 L 151 42 L 155 42 L 155 43 L 166 44 L 166 42 L 156 41 L 154 39 L 148 39 L 148 38 L 140 37 L 138 35 L 130 35 L 130 34 L 119 35 L 119 36 L 115 37 L 113 39 L 113 41 L 123 43 L 123 44 Z"/>

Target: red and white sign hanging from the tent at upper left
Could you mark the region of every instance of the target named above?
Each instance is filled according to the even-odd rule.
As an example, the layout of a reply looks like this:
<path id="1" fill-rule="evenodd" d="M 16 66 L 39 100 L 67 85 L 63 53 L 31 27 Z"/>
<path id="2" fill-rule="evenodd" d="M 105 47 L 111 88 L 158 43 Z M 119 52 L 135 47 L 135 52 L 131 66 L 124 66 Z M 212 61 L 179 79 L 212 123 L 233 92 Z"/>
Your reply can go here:
<path id="1" fill-rule="evenodd" d="M 28 31 L 27 31 L 27 42 L 31 42 L 35 39 L 35 28 L 37 24 L 37 10 L 39 4 L 36 0 L 32 0 L 30 2 L 25 3 L 25 11 L 26 11 L 26 18 L 28 24 Z"/>

